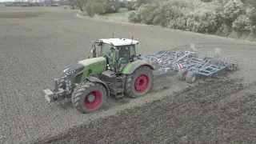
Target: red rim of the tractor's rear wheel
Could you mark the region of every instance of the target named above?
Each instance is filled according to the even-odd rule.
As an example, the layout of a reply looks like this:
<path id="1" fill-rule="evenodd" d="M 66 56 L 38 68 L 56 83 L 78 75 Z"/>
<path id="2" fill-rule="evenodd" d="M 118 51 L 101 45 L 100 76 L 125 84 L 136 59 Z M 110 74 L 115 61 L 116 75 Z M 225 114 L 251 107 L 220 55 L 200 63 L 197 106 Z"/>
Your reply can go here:
<path id="1" fill-rule="evenodd" d="M 147 75 L 139 75 L 134 82 L 134 89 L 138 93 L 142 93 L 149 86 L 149 78 Z"/>

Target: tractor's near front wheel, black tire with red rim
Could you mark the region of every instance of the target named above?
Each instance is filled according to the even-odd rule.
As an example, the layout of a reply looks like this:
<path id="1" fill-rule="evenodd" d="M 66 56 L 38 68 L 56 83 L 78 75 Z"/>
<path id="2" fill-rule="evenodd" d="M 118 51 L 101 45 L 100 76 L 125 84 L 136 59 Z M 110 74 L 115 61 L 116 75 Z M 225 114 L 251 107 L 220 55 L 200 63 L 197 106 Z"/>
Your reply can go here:
<path id="1" fill-rule="evenodd" d="M 79 112 L 86 114 L 98 110 L 106 98 L 106 89 L 102 84 L 86 82 L 74 90 L 72 102 Z"/>

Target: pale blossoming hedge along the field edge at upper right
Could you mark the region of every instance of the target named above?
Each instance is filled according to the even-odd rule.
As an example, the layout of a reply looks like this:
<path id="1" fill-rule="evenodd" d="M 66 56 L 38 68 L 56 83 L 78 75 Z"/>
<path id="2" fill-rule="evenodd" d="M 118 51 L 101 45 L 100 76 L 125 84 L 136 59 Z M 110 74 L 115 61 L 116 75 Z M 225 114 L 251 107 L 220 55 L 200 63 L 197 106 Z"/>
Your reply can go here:
<path id="1" fill-rule="evenodd" d="M 131 22 L 228 35 L 255 34 L 256 10 L 250 0 L 155 0 L 127 13 Z"/>

